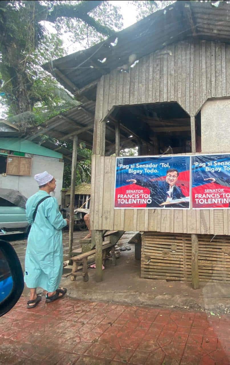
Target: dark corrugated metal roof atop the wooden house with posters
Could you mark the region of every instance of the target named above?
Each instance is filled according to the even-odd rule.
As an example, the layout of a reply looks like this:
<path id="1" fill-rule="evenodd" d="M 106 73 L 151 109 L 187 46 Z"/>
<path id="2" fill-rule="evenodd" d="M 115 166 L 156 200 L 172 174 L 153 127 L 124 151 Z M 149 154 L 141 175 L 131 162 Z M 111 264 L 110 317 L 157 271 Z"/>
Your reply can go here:
<path id="1" fill-rule="evenodd" d="M 216 2 L 217 3 L 217 2 Z M 58 58 L 44 68 L 55 75 L 70 92 L 78 92 L 103 74 L 127 64 L 130 54 L 136 59 L 166 45 L 195 38 L 230 43 L 230 4 L 220 1 L 177 1 L 163 10 L 117 32 L 86 50 Z M 111 46 L 118 37 L 115 47 Z M 98 60 L 106 58 L 101 64 Z"/>

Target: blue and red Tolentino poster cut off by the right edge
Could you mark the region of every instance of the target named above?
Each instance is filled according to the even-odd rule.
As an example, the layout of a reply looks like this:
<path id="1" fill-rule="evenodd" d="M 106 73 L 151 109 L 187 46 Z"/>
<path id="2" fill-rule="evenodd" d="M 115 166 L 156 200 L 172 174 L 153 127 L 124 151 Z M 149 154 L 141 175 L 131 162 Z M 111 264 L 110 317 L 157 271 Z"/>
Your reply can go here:
<path id="1" fill-rule="evenodd" d="M 230 154 L 192 156 L 192 207 L 229 208 Z"/>

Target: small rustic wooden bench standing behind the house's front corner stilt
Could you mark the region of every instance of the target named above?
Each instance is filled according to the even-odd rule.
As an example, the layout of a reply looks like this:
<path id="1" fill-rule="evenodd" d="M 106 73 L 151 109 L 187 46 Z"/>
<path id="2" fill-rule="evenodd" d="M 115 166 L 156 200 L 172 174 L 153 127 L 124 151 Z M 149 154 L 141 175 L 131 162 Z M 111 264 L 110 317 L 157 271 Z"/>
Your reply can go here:
<path id="1" fill-rule="evenodd" d="M 108 249 L 111 249 L 112 265 L 115 266 L 116 265 L 115 243 L 111 243 L 111 242 L 103 243 L 103 246 L 102 246 L 103 261 L 106 259 L 106 251 Z M 89 280 L 87 260 L 88 260 L 89 256 L 91 256 L 95 253 L 96 253 L 96 249 L 82 253 L 82 254 L 74 256 L 74 257 L 71 257 L 71 260 L 73 261 L 73 269 L 72 269 L 72 273 L 70 274 L 72 281 L 76 280 L 77 276 L 83 276 L 83 281 Z M 83 268 L 82 268 L 82 272 L 79 272 L 77 270 L 77 268 L 78 268 L 78 265 L 81 263 L 83 264 Z"/>

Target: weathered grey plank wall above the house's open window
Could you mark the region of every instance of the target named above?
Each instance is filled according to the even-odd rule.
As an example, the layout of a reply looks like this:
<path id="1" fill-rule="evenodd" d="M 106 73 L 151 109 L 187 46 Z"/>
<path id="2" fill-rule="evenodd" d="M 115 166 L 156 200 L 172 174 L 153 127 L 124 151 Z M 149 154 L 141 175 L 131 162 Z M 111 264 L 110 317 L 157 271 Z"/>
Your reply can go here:
<path id="1" fill-rule="evenodd" d="M 195 116 L 211 97 L 230 96 L 230 45 L 178 42 L 139 59 L 130 73 L 112 70 L 97 84 L 93 153 L 104 153 L 104 118 L 115 105 L 177 101 Z"/>

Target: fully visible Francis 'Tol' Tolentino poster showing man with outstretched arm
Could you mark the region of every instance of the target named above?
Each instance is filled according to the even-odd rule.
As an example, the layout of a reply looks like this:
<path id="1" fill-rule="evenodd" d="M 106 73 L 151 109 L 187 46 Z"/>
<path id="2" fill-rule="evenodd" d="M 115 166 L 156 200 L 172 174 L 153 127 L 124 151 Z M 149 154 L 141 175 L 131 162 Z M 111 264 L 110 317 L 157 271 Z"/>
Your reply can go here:
<path id="1" fill-rule="evenodd" d="M 115 208 L 189 209 L 190 156 L 116 158 Z"/>

